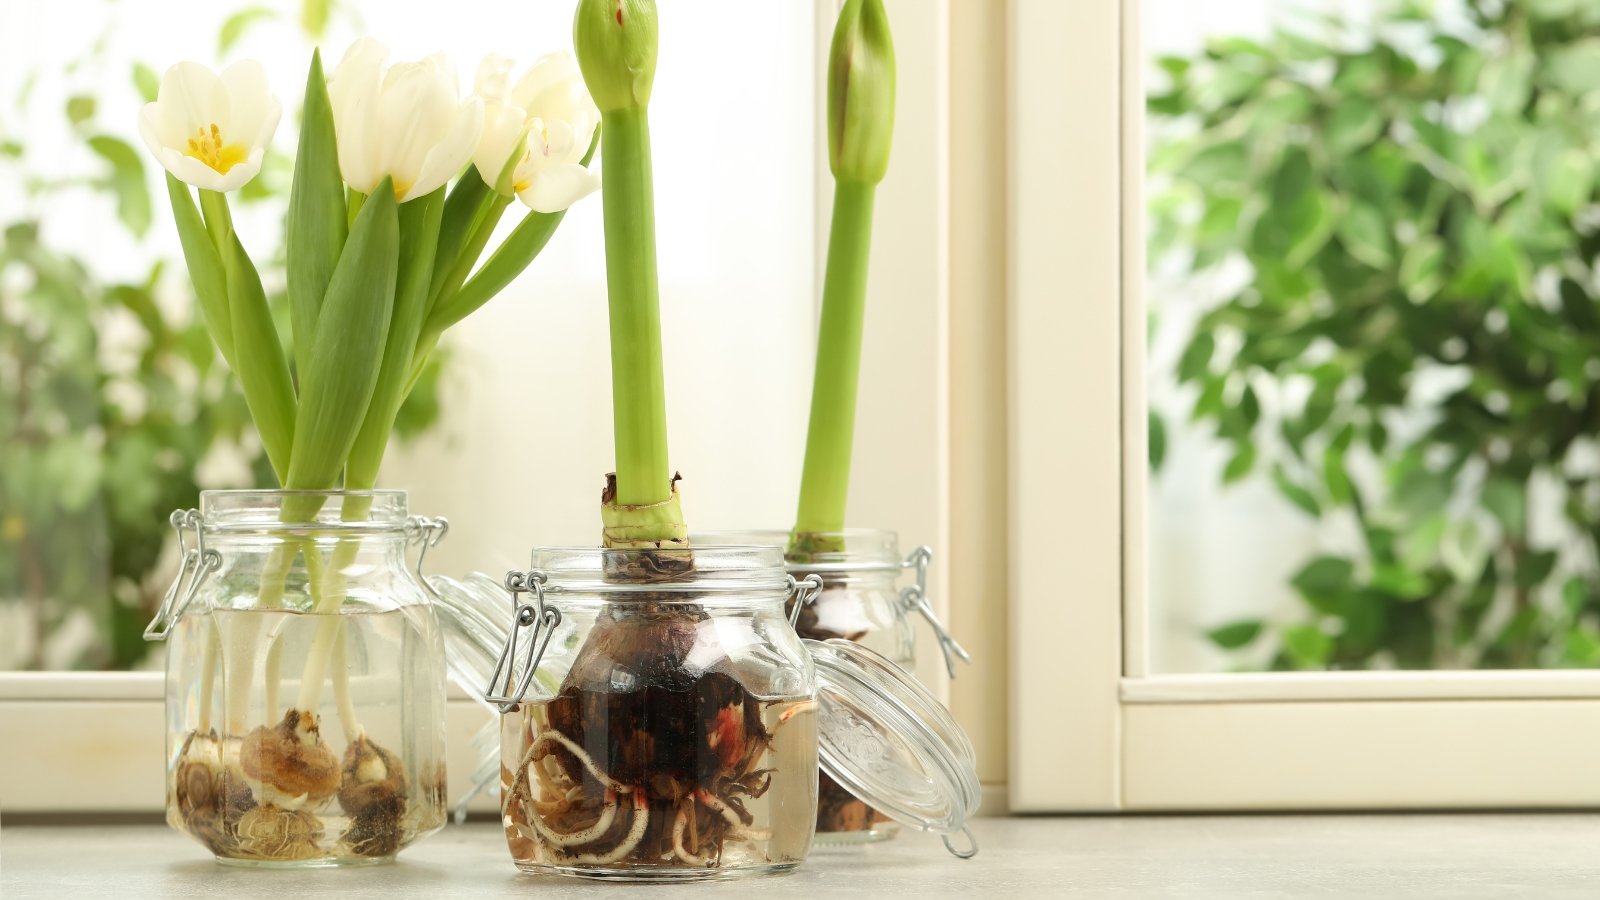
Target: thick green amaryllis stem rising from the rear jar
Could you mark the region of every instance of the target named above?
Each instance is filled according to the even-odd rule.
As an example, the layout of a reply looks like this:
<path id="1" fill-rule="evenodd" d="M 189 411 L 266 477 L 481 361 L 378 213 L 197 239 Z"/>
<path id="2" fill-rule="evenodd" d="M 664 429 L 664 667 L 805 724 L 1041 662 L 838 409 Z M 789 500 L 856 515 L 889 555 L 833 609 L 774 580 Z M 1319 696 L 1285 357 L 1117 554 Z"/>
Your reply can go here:
<path id="1" fill-rule="evenodd" d="M 869 183 L 840 181 L 834 194 L 797 533 L 838 532 L 845 527 L 874 191 Z"/>

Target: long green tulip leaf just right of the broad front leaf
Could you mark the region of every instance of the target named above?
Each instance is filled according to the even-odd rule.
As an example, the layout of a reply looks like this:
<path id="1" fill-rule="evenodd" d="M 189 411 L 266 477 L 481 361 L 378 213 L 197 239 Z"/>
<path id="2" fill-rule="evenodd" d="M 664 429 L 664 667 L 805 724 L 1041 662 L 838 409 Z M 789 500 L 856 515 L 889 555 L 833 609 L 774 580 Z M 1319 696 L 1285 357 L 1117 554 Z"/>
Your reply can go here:
<path id="1" fill-rule="evenodd" d="M 400 404 L 411 384 L 411 362 L 416 341 L 427 314 L 427 295 L 434 274 L 434 253 L 438 247 L 438 223 L 445 208 L 445 189 L 427 197 L 400 205 L 400 267 L 395 287 L 395 311 L 389 320 L 389 338 L 384 341 L 384 364 L 378 375 L 378 389 L 366 408 L 366 421 L 350 448 L 350 464 L 346 487 L 366 490 L 378 484 L 378 466 L 382 463 L 389 434 L 394 431 Z"/>

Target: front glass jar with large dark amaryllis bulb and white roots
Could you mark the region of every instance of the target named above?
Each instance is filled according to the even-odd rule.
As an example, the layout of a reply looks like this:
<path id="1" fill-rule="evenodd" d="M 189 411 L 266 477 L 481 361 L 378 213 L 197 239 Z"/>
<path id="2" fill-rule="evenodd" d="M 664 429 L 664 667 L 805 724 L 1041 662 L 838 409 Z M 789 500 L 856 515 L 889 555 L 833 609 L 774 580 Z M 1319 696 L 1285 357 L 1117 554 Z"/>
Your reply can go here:
<path id="1" fill-rule="evenodd" d="M 714 879 L 806 857 L 816 673 L 779 548 L 536 549 L 507 586 L 531 594 L 490 679 L 517 866 Z"/>

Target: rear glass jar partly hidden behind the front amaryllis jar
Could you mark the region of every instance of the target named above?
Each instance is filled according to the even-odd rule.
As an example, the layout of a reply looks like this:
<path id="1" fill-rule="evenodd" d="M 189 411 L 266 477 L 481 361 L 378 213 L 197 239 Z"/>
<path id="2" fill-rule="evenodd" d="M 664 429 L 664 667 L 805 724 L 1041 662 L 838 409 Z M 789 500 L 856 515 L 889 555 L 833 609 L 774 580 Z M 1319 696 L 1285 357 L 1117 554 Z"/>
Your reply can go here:
<path id="1" fill-rule="evenodd" d="M 795 629 L 808 641 L 843 639 L 861 644 L 909 671 L 917 668 L 917 629 L 912 615 L 923 617 L 944 652 L 950 677 L 955 660 L 966 650 L 950 637 L 926 601 L 928 562 L 933 551 L 922 546 L 901 557 L 894 532 L 846 528 L 806 535 L 794 541 L 789 532 L 712 532 L 694 535 L 691 543 L 779 546 L 786 567 L 795 578 L 818 575 L 822 593 L 800 610 Z M 915 581 L 901 588 L 901 577 L 912 570 Z M 818 783 L 816 842 L 864 844 L 886 841 L 899 825 L 883 810 L 869 806 L 827 772 Z"/>

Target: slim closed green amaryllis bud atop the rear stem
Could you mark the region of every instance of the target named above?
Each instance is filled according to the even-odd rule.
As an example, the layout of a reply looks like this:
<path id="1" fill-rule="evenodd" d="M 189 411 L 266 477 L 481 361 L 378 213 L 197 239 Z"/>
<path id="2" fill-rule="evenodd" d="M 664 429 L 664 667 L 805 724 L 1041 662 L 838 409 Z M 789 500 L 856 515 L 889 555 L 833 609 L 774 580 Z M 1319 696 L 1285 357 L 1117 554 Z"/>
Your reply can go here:
<path id="1" fill-rule="evenodd" d="M 834 178 L 883 181 L 893 135 L 894 42 L 883 0 L 846 0 L 827 64 L 827 162 Z"/>

